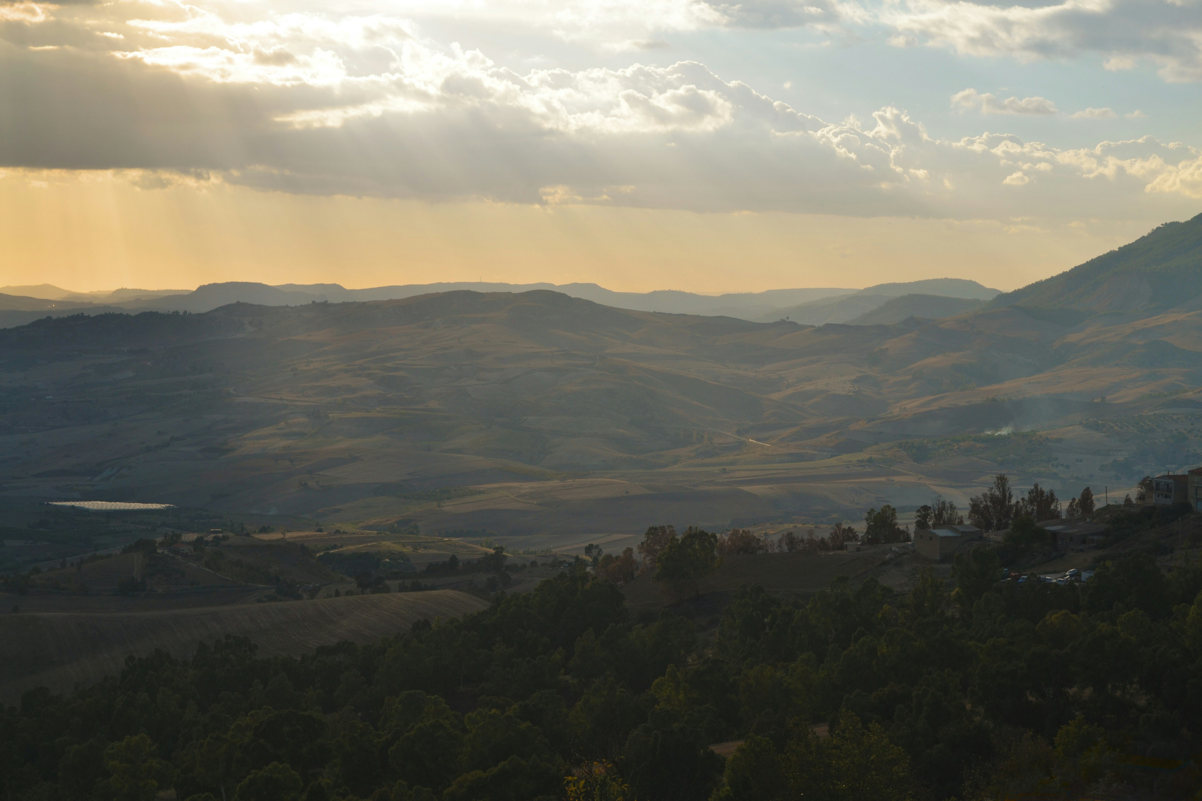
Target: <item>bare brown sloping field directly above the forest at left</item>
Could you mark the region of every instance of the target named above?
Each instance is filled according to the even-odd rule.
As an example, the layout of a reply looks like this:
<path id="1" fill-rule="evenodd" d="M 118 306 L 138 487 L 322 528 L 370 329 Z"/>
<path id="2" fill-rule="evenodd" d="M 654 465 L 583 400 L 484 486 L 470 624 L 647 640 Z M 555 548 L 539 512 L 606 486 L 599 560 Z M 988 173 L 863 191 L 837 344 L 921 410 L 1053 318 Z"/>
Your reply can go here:
<path id="1" fill-rule="evenodd" d="M 453 590 L 144 612 L 20 612 L 0 616 L 0 703 L 31 687 L 55 693 L 120 673 L 155 648 L 188 658 L 198 642 L 249 636 L 260 656 L 298 656 L 340 640 L 365 642 L 416 621 L 456 617 L 487 602 Z"/>

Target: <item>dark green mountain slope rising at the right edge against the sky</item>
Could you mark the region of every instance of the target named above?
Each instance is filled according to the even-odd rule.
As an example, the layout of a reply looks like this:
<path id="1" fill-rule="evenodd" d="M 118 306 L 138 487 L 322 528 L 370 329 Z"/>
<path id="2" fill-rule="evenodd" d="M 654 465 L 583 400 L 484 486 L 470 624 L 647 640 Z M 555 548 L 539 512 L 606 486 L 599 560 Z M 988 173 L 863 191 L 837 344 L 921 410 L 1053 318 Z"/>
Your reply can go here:
<path id="1" fill-rule="evenodd" d="M 1130 245 L 999 295 L 990 307 L 1154 313 L 1202 295 L 1202 215 L 1166 222 Z"/>

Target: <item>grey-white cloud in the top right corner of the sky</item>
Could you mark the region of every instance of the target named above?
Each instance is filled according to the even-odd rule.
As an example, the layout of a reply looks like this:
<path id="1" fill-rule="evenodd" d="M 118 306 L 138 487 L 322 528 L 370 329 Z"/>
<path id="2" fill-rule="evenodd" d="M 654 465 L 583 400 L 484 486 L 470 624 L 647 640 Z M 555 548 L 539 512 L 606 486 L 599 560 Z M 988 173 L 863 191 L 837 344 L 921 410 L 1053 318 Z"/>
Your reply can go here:
<path id="1" fill-rule="evenodd" d="M 1148 61 L 1166 80 L 1202 80 L 1202 14 L 1196 0 L 1063 0 L 1029 6 L 905 0 L 883 5 L 876 19 L 898 31 L 893 38 L 898 44 L 1020 61 L 1094 53 L 1105 58 L 1108 70 Z"/>

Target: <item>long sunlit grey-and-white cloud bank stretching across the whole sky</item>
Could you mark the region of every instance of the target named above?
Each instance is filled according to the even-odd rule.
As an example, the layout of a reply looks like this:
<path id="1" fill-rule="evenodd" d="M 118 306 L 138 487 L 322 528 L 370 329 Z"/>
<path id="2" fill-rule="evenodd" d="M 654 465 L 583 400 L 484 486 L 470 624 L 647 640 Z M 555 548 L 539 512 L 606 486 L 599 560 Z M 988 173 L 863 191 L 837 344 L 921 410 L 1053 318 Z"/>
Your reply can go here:
<path id="1" fill-rule="evenodd" d="M 702 5 L 722 24 L 785 22 L 773 4 Z M 892 107 L 834 124 L 694 61 L 517 72 L 387 14 L 38 8 L 0 28 L 0 165 L 135 171 L 145 186 L 162 171 L 297 193 L 958 219 L 1165 217 L 1202 191 L 1186 145 L 946 141 Z M 971 89 L 953 104 L 1055 113 Z"/>

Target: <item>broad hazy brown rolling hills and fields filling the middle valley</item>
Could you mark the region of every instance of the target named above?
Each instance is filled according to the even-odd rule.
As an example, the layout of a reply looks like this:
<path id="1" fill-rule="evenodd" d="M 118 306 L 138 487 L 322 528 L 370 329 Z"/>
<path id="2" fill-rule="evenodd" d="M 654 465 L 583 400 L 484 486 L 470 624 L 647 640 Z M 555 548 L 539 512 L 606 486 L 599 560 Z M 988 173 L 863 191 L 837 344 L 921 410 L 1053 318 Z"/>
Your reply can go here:
<path id="1" fill-rule="evenodd" d="M 1033 315 L 805 327 L 535 291 L 42 319 L 0 331 L 0 498 L 543 548 L 1196 461 L 1173 410 L 1200 402 L 1202 312 Z"/>

